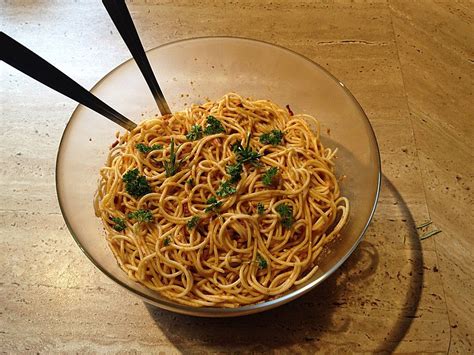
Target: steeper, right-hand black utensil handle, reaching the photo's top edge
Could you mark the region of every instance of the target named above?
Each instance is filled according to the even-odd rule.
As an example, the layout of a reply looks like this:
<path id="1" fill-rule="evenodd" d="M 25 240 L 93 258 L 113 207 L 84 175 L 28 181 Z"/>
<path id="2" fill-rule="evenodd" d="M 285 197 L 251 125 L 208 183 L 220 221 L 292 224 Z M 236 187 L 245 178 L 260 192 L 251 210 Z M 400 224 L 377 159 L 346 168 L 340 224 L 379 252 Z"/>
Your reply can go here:
<path id="1" fill-rule="evenodd" d="M 133 24 L 132 17 L 130 16 L 125 1 L 102 0 L 102 3 L 114 22 L 115 27 L 117 27 L 130 53 L 132 53 L 138 68 L 142 72 L 143 77 L 155 98 L 161 114 L 170 114 L 171 110 L 165 100 L 163 92 L 161 91 L 160 85 L 158 85 L 155 74 L 151 69 L 150 62 L 148 61 L 145 50 L 140 42 L 140 38 L 138 37 L 137 30 Z"/>

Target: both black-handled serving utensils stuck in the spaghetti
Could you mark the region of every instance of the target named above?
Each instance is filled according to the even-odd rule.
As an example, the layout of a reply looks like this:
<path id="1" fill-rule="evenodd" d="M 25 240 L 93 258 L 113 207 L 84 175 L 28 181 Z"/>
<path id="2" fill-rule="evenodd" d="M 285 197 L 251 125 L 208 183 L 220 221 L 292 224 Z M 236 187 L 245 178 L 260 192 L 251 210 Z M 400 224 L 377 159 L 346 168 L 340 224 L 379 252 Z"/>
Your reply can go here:
<path id="1" fill-rule="evenodd" d="M 142 72 L 150 88 L 156 104 L 162 115 L 170 114 L 170 108 L 161 91 L 158 81 L 153 74 L 150 62 L 138 37 L 130 12 L 124 0 L 103 0 L 107 12 L 117 27 L 125 44 L 132 53 L 133 59 Z M 48 63 L 22 44 L 15 41 L 5 33 L 0 33 L 0 58 L 7 64 L 18 69 L 29 77 L 50 87 L 57 92 L 87 106 L 109 120 L 119 124 L 127 130 L 134 129 L 136 123 L 114 110 L 105 102 L 91 94 L 84 87 L 72 80 L 69 76 Z"/>

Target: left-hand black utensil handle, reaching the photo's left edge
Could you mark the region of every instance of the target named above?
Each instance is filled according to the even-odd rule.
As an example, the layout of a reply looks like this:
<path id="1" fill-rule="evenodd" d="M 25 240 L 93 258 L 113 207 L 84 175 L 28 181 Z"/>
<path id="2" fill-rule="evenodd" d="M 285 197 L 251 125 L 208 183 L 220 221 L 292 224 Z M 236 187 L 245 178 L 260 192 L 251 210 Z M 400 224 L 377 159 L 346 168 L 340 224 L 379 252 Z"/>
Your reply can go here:
<path id="1" fill-rule="evenodd" d="M 105 102 L 92 95 L 55 66 L 4 32 L 0 33 L 0 48 L 0 59 L 29 77 L 89 107 L 91 110 L 107 117 L 125 129 L 132 130 L 137 126 Z"/>

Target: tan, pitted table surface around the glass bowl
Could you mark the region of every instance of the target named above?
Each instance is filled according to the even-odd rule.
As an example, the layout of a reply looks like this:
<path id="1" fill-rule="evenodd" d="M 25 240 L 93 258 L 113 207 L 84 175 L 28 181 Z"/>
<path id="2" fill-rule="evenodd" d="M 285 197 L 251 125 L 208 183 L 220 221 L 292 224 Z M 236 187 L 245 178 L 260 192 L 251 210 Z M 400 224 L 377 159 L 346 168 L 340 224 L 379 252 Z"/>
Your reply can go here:
<path id="1" fill-rule="evenodd" d="M 153 309 L 100 273 L 54 185 L 76 104 L 1 64 L 3 351 L 473 352 L 474 6 L 470 1 L 152 1 L 129 7 L 144 46 L 235 35 L 291 48 L 343 81 L 375 129 L 377 213 L 313 292 L 264 314 Z M 2 30 L 86 87 L 129 53 L 98 1 L 2 1 Z M 420 241 L 427 220 L 441 233 Z"/>

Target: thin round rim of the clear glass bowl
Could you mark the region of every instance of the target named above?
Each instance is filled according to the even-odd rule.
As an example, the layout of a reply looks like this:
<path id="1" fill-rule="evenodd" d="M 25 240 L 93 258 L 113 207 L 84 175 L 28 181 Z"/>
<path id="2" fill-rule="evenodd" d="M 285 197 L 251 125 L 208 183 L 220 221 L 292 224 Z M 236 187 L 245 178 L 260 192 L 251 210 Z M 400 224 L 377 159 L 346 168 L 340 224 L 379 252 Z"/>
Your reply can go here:
<path id="1" fill-rule="evenodd" d="M 73 237 L 73 239 L 75 240 L 75 242 L 79 246 L 79 248 L 82 250 L 82 252 L 92 262 L 92 264 L 95 267 L 97 267 L 102 273 L 104 273 L 107 277 L 109 277 L 114 282 L 116 282 L 118 285 L 124 287 L 126 290 L 128 290 L 129 292 L 133 293 L 134 295 L 140 297 L 144 301 L 146 301 L 146 302 L 148 302 L 148 303 L 150 303 L 154 306 L 157 306 L 159 308 L 163 308 L 163 309 L 166 309 L 168 311 L 172 311 L 172 312 L 176 312 L 176 313 L 192 315 L 192 316 L 199 316 L 199 317 L 236 317 L 236 316 L 243 316 L 243 315 L 248 315 L 248 314 L 253 314 L 253 313 L 260 313 L 260 312 L 263 312 L 263 311 L 281 306 L 283 304 L 286 304 L 286 303 L 288 303 L 288 302 L 304 295 L 305 293 L 309 292 L 310 290 L 315 288 L 317 285 L 322 283 L 329 276 L 331 276 L 349 258 L 349 256 L 354 252 L 354 250 L 357 248 L 359 243 L 362 241 L 365 233 L 367 232 L 367 228 L 368 228 L 368 226 L 369 226 L 369 224 L 372 221 L 372 218 L 374 216 L 374 213 L 375 213 L 375 210 L 376 210 L 376 207 L 377 207 L 377 204 L 378 204 L 379 196 L 380 196 L 381 181 L 382 181 L 380 149 L 379 149 L 379 145 L 378 145 L 378 142 L 377 142 L 377 137 L 375 136 L 374 129 L 373 129 L 373 127 L 370 123 L 370 120 L 368 119 L 364 109 L 362 108 L 360 103 L 357 101 L 357 99 L 354 97 L 354 95 L 352 95 L 352 93 L 349 91 L 349 89 L 347 89 L 347 87 L 339 79 L 337 79 L 328 70 L 326 70 L 325 68 L 323 68 L 321 65 L 319 65 L 315 61 L 311 60 L 310 58 L 308 58 L 308 57 L 306 57 L 306 56 L 304 56 L 304 55 L 302 55 L 298 52 L 295 52 L 294 50 L 291 50 L 289 48 L 281 46 L 279 44 L 270 43 L 270 42 L 266 42 L 266 41 L 262 41 L 262 40 L 253 39 L 253 38 L 237 37 L 237 36 L 189 37 L 189 38 L 179 39 L 179 40 L 176 40 L 176 41 L 171 41 L 171 42 L 161 44 L 159 46 L 156 46 L 156 47 L 153 47 L 153 48 L 147 50 L 146 53 L 152 52 L 152 51 L 155 51 L 155 50 L 158 50 L 158 49 L 161 49 L 161 48 L 165 48 L 167 46 L 175 45 L 175 44 L 178 44 L 178 43 L 181 43 L 181 42 L 191 42 L 191 41 L 200 41 L 200 40 L 226 40 L 226 39 L 228 39 L 228 40 L 238 40 L 238 41 L 244 41 L 244 42 L 254 42 L 254 43 L 263 44 L 263 45 L 266 45 L 266 46 L 269 46 L 269 47 L 276 47 L 279 50 L 289 52 L 290 54 L 296 55 L 299 58 L 301 58 L 301 59 L 309 62 L 310 64 L 316 66 L 318 69 L 322 70 L 326 75 L 328 75 L 329 78 L 331 78 L 333 81 L 335 81 L 337 84 L 339 84 L 342 87 L 342 89 L 344 90 L 345 94 L 348 95 L 348 97 L 355 103 L 356 107 L 359 109 L 360 113 L 362 114 L 362 116 L 365 119 L 365 121 L 367 123 L 367 126 L 369 128 L 369 130 L 368 130 L 369 135 L 372 136 L 372 139 L 373 139 L 372 142 L 374 143 L 374 148 L 375 148 L 375 153 L 376 153 L 375 163 L 376 163 L 376 166 L 377 166 L 377 188 L 376 188 L 375 198 L 374 198 L 374 202 L 373 202 L 373 205 L 372 205 L 372 209 L 371 209 L 369 218 L 367 219 L 367 222 L 365 223 L 364 227 L 362 228 L 362 231 L 361 231 L 359 237 L 357 238 L 357 240 L 355 241 L 355 243 L 348 250 L 348 252 L 345 255 L 343 255 L 343 257 L 341 257 L 329 270 L 327 270 L 323 275 L 321 275 L 317 279 L 307 283 L 303 287 L 292 290 L 292 291 L 290 291 L 290 292 L 288 292 L 288 293 L 286 293 L 286 294 L 284 294 L 280 297 L 270 299 L 268 301 L 255 303 L 255 304 L 251 304 L 251 305 L 246 305 L 246 306 L 242 306 L 242 307 L 236 307 L 236 308 L 192 307 L 192 306 L 187 306 L 187 305 L 183 305 L 183 304 L 179 304 L 179 303 L 170 302 L 166 299 L 162 299 L 162 300 L 158 301 L 156 299 L 151 298 L 147 294 L 145 294 L 145 293 L 143 293 L 139 290 L 136 290 L 136 289 L 130 287 L 129 285 L 127 285 L 126 283 L 122 282 L 121 280 L 116 278 L 113 274 L 109 273 L 98 262 L 96 262 L 96 260 L 82 246 L 81 242 L 79 241 L 78 237 L 76 236 L 76 233 L 72 229 L 71 224 L 68 220 L 68 217 L 65 213 L 65 210 L 64 210 L 64 207 L 63 207 L 62 197 L 61 197 L 61 194 L 59 193 L 59 187 L 58 187 L 59 186 L 58 170 L 59 170 L 59 165 L 60 165 L 60 161 L 61 161 L 60 157 L 61 157 L 61 154 L 62 154 L 61 153 L 62 152 L 61 147 L 63 146 L 65 136 L 66 136 L 67 132 L 69 131 L 69 129 L 71 129 L 70 125 L 71 125 L 72 119 L 76 115 L 77 110 L 79 109 L 79 107 L 83 106 L 81 104 L 78 104 L 76 106 L 76 108 L 74 109 L 74 111 L 72 112 L 71 117 L 69 118 L 69 120 L 66 124 L 66 127 L 64 128 L 63 134 L 61 136 L 61 140 L 60 140 L 59 147 L 58 147 L 58 153 L 56 155 L 56 168 L 55 168 L 56 195 L 58 197 L 58 202 L 59 202 L 59 207 L 60 207 L 60 210 L 61 210 L 61 214 L 64 218 L 64 221 L 65 221 L 66 226 L 69 230 L 69 233 L 71 234 L 71 236 Z M 109 71 L 105 76 L 103 76 L 97 83 L 95 83 L 94 86 L 90 89 L 90 91 L 93 92 L 110 75 L 112 75 L 115 71 L 119 70 L 122 66 L 130 63 L 131 61 L 133 61 L 133 58 L 129 58 L 129 59 L 123 61 L 122 63 L 120 63 L 119 65 L 117 65 L 115 68 L 113 68 L 111 71 Z"/>

